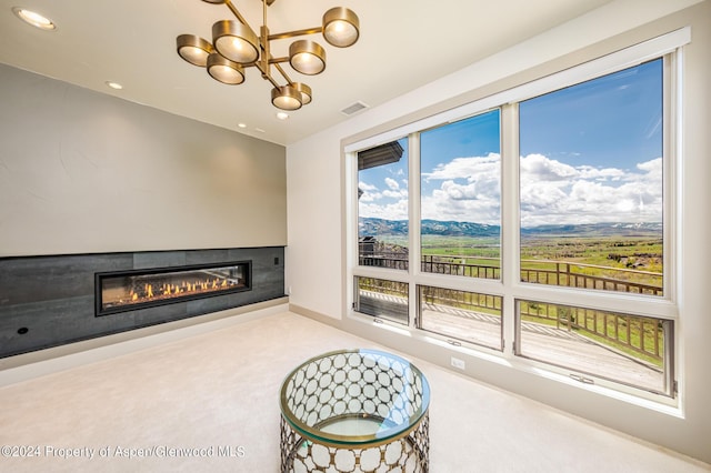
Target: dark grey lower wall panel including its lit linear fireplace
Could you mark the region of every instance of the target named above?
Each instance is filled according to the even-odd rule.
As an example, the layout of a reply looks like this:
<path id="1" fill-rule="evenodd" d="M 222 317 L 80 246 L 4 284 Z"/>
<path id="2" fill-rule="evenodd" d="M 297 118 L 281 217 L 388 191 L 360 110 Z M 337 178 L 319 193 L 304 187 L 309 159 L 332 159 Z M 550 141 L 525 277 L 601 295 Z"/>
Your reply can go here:
<path id="1" fill-rule="evenodd" d="M 0 258 L 0 358 L 284 296 L 284 248 Z"/>

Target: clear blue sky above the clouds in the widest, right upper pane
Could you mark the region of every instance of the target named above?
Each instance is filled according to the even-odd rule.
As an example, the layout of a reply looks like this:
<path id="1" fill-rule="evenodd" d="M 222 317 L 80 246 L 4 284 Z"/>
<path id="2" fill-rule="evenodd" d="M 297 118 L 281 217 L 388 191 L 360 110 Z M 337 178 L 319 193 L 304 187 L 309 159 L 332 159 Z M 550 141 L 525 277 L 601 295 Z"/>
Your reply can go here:
<path id="1" fill-rule="evenodd" d="M 628 170 L 659 158 L 661 73 L 657 60 L 522 102 L 521 154 Z"/>

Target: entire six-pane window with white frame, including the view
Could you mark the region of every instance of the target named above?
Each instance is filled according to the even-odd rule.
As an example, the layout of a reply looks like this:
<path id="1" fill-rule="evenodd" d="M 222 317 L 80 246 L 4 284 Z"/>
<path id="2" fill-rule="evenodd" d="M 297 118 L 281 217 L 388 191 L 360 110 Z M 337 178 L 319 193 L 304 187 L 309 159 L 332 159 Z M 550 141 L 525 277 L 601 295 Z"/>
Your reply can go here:
<path id="1" fill-rule="evenodd" d="M 347 147 L 354 313 L 673 403 L 684 41 L 671 33 Z"/>

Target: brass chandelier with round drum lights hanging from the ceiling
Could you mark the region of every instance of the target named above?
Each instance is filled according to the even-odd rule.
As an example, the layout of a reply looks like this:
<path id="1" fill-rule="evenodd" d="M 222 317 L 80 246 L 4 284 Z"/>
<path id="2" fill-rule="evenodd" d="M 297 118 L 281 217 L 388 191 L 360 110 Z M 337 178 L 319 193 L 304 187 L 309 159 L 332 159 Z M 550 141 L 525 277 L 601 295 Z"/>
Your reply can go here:
<path id="1" fill-rule="evenodd" d="M 230 0 L 202 0 L 207 3 L 224 3 L 239 21 L 220 20 L 212 26 L 212 42 L 194 34 L 180 34 L 176 40 L 178 54 L 193 66 L 207 68 L 208 73 L 217 81 L 237 85 L 244 82 L 244 68 L 256 67 L 274 87 L 271 102 L 282 110 L 298 110 L 311 102 L 311 88 L 304 83 L 292 81 L 283 62 L 306 76 L 316 76 L 326 69 L 326 50 L 317 42 L 298 40 L 289 47 L 289 56 L 273 58 L 270 42 L 287 38 L 322 33 L 330 44 L 348 48 L 358 41 L 358 16 L 343 7 L 336 7 L 323 14 L 321 27 L 284 33 L 270 34 L 267 28 L 267 7 L 276 0 L 261 0 L 263 24 L 259 36 L 247 23 L 244 17 Z M 272 66 L 281 74 L 280 83 L 272 76 Z"/>

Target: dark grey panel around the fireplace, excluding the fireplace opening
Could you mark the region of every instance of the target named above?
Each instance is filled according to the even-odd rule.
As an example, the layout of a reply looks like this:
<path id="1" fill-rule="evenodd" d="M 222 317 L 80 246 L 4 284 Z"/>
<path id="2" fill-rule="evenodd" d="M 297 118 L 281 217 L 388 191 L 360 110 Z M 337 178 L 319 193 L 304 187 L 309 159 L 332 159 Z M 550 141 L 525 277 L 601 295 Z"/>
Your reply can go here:
<path id="1" fill-rule="evenodd" d="M 94 314 L 94 273 L 251 261 L 252 288 Z M 223 311 L 284 295 L 283 246 L 0 259 L 0 358 Z"/>

